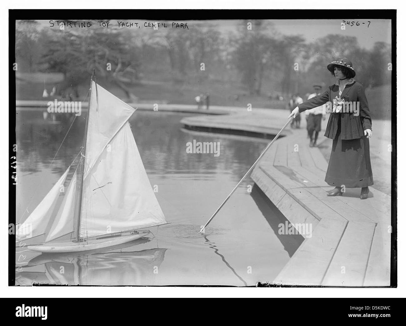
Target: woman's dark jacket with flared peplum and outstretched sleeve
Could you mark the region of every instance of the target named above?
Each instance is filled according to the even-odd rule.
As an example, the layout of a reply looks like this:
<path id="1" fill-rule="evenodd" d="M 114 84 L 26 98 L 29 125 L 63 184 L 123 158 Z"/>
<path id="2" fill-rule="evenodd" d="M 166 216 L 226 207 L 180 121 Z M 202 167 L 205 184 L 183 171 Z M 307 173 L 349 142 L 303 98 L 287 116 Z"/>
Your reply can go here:
<path id="1" fill-rule="evenodd" d="M 338 83 L 331 85 L 324 91 L 324 93 L 303 102 L 298 105 L 299 112 L 313 109 L 317 106 L 323 105 L 326 102 L 333 103 L 333 100 L 339 96 Z M 365 129 L 372 130 L 371 116 L 369 114 L 368 101 L 365 96 L 364 87 L 356 82 L 354 79 L 350 80 L 343 92 L 341 98 L 346 102 L 359 102 L 359 114 L 340 112 L 331 113 L 327 122 L 326 133 L 324 136 L 334 139 L 337 134 L 338 121 L 341 119 L 341 133 L 340 139 L 349 140 L 362 138 Z M 331 111 L 330 111 L 331 112 Z"/>

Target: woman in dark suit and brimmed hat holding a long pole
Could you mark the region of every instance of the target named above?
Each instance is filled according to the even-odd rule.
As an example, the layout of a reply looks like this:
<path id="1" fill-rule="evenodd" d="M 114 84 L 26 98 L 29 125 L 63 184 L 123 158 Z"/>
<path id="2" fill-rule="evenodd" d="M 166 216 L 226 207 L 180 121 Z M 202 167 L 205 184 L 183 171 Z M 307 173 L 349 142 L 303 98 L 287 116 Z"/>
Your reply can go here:
<path id="1" fill-rule="evenodd" d="M 296 106 L 289 118 L 322 104 L 329 104 L 328 111 L 331 114 L 324 136 L 333 139 L 333 148 L 325 181 L 335 188 L 327 196 L 341 196 L 345 186 L 361 188 L 360 198 L 366 199 L 368 186 L 374 184 L 374 179 L 369 157 L 372 122 L 365 91 L 353 79 L 355 70 L 347 58 L 332 61 L 327 69 L 335 76 L 337 83 L 328 87 L 324 93 Z M 355 105 L 348 106 L 348 103 Z"/>

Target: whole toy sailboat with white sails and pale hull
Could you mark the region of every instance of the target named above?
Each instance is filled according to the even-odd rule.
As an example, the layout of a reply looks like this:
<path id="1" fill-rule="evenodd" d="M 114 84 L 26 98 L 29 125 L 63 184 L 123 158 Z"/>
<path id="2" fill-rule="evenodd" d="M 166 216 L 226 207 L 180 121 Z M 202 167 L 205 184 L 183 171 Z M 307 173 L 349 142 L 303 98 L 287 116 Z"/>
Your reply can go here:
<path id="1" fill-rule="evenodd" d="M 103 249 L 167 224 L 128 122 L 135 111 L 92 77 L 79 163 L 64 196 L 60 189 L 65 189 L 71 166 L 28 216 L 25 227 L 19 228 L 30 226 L 32 238 L 45 236 L 43 243 L 28 246 L 29 250 Z M 17 233 L 19 239 L 24 236 Z"/>

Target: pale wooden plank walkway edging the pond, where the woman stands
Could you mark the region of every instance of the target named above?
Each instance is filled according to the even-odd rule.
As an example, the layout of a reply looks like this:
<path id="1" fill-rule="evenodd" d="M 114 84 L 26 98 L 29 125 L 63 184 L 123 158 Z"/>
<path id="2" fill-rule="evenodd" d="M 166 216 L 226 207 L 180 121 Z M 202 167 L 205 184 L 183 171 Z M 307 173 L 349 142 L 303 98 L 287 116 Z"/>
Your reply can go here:
<path id="1" fill-rule="evenodd" d="M 191 117 L 182 123 L 196 130 L 245 128 L 276 134 L 286 122 L 285 115 L 283 122 L 265 117 L 259 122 L 260 115 L 243 113 L 221 120 Z M 391 196 L 374 187 L 369 188 L 366 200 L 359 199 L 361 189 L 347 188 L 343 196 L 326 196 L 332 189 L 324 181 L 328 163 L 319 148 L 309 147 L 303 121 L 301 129 L 287 127 L 285 135 L 263 156 L 251 178 L 290 223 L 311 224 L 312 233 L 311 237 L 302 234 L 302 245 L 272 283 L 389 286 Z M 320 132 L 319 141 L 326 139 L 323 135 Z"/>

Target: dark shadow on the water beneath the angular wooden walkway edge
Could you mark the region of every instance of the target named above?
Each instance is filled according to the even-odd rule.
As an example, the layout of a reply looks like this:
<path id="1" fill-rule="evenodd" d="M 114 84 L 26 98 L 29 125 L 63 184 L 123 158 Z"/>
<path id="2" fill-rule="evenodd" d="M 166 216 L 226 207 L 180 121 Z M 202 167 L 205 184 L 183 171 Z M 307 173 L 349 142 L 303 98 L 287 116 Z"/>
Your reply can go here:
<path id="1" fill-rule="evenodd" d="M 263 214 L 263 217 L 265 217 L 272 230 L 274 230 L 276 237 L 278 237 L 279 241 L 283 244 L 283 248 L 287 251 L 289 257 L 292 257 L 296 250 L 298 250 L 304 238 L 300 234 L 279 234 L 279 224 L 285 224 L 286 221 L 289 223 L 289 221 L 269 200 L 257 184 L 254 185 L 251 196 Z"/>

